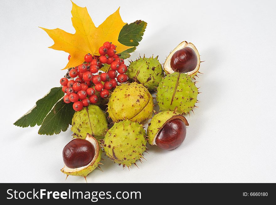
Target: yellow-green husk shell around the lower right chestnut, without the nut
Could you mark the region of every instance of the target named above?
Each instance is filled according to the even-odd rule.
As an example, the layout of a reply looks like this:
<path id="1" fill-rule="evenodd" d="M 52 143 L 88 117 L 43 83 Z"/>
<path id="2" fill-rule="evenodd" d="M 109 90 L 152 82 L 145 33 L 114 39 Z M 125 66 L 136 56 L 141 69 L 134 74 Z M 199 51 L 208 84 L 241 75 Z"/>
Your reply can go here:
<path id="1" fill-rule="evenodd" d="M 178 112 L 174 111 L 164 111 L 157 113 L 156 115 L 153 116 L 151 119 L 151 122 L 149 123 L 148 129 L 147 129 L 147 139 L 148 143 L 150 145 L 156 145 L 155 144 L 155 138 L 159 131 L 163 128 L 165 124 L 167 124 L 169 121 L 173 119 L 181 119 L 183 122 L 188 126 L 188 122 L 186 118 L 181 115 Z"/>

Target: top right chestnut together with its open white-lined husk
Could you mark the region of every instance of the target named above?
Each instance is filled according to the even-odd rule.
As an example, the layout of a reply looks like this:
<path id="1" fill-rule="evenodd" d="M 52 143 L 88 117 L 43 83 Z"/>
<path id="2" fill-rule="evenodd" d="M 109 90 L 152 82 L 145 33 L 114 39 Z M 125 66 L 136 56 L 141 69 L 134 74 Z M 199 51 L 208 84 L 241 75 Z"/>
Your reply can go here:
<path id="1" fill-rule="evenodd" d="M 167 74 L 173 72 L 187 73 L 194 77 L 199 72 L 200 56 L 192 43 L 183 41 L 167 57 L 164 63 L 164 71 Z"/>

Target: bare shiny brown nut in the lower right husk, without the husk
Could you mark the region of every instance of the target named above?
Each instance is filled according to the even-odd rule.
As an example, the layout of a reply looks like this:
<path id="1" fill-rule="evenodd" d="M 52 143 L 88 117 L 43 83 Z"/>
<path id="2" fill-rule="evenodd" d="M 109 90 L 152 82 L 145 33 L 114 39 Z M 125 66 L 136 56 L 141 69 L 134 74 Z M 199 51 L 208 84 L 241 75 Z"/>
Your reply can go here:
<path id="1" fill-rule="evenodd" d="M 167 122 L 157 134 L 155 143 L 163 150 L 173 150 L 184 141 L 186 124 L 182 119 L 175 118 Z"/>

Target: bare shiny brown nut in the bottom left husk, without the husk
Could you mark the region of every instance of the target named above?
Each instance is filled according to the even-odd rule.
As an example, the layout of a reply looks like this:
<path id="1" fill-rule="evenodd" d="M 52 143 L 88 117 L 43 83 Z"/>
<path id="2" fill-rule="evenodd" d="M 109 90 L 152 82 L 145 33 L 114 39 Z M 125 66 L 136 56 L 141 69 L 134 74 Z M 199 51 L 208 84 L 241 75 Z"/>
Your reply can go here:
<path id="1" fill-rule="evenodd" d="M 62 151 L 64 164 L 69 168 L 77 168 L 88 165 L 94 158 L 95 148 L 86 139 L 71 140 Z"/>

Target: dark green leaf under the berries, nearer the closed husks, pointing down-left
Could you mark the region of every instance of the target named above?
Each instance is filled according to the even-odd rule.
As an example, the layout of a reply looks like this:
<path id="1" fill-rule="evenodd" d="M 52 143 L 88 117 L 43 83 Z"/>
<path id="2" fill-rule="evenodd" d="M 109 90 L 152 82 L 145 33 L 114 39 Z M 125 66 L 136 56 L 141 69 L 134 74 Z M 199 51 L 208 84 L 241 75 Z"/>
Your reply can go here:
<path id="1" fill-rule="evenodd" d="M 65 132 L 69 124 L 72 124 L 74 113 L 72 103 L 64 103 L 63 98 L 60 99 L 43 120 L 38 134 L 53 135 Z"/>

